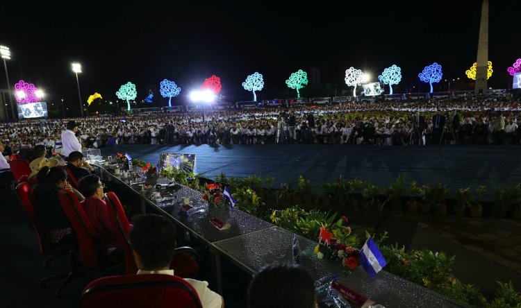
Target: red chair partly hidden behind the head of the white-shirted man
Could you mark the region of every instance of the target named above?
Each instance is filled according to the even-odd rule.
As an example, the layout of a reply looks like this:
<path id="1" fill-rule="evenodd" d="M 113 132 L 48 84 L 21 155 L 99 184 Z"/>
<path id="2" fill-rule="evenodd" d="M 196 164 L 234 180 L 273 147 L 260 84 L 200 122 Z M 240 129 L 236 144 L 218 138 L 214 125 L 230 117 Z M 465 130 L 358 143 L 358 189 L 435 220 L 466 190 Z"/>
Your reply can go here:
<path id="1" fill-rule="evenodd" d="M 135 265 L 132 248 L 129 244 L 131 224 L 126 219 L 125 211 L 116 194 L 113 191 L 109 191 L 105 194 L 105 198 L 110 220 L 116 227 L 116 236 L 125 254 L 125 271 L 127 274 L 135 274 L 138 272 L 138 266 Z M 174 269 L 174 273 L 179 277 L 191 277 L 199 271 L 199 264 L 189 254 L 195 255 L 195 258 L 199 259 L 197 252 L 188 246 L 178 247 L 174 252 L 170 268 Z"/>

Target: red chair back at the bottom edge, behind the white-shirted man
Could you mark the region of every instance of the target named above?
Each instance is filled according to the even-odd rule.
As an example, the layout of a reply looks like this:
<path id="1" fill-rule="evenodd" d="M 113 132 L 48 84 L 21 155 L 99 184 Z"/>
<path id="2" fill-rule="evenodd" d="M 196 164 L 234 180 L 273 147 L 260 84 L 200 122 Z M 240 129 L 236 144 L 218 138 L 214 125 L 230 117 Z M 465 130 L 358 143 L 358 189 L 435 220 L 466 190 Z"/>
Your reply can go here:
<path id="1" fill-rule="evenodd" d="M 80 308 L 202 308 L 197 291 L 180 277 L 162 274 L 103 277 L 90 282 Z"/>

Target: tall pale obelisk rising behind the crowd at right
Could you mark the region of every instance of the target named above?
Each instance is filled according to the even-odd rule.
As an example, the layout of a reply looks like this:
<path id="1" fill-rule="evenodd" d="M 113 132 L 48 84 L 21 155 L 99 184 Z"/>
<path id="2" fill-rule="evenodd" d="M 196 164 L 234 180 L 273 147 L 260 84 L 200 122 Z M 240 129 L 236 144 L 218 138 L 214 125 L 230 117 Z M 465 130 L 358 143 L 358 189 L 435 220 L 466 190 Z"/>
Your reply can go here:
<path id="1" fill-rule="evenodd" d="M 476 67 L 476 85 L 474 93 L 486 94 L 488 69 L 488 0 L 481 6 L 481 24 L 479 25 L 478 56 Z"/>

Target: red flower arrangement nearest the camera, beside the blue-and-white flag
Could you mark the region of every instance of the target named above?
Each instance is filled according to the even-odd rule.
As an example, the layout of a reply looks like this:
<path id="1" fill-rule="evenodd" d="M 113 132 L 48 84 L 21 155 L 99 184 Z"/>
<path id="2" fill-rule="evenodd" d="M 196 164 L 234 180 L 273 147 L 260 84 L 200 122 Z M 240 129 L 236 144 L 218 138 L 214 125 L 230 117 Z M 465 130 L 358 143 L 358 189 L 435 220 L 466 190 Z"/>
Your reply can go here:
<path id="1" fill-rule="evenodd" d="M 336 224 L 331 225 L 332 232 L 320 227 L 319 244 L 315 247 L 315 254 L 319 259 L 336 260 L 352 271 L 360 264 L 360 250 L 352 247 L 357 239 L 351 235 L 348 222 L 347 216 L 342 216 Z"/>

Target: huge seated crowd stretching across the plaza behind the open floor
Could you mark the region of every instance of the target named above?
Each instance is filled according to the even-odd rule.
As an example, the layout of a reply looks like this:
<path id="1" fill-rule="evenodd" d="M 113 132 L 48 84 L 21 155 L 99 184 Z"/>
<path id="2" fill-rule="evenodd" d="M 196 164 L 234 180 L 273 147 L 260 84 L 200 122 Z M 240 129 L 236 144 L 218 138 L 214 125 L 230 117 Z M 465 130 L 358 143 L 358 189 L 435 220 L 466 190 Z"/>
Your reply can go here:
<path id="1" fill-rule="evenodd" d="M 519 144 L 520 110 L 518 101 L 446 99 L 142 113 L 74 120 L 78 121 L 76 137 L 85 148 L 117 144 L 284 142 Z M 67 120 L 61 119 L 3 123 L 0 136 L 7 151 L 43 145 L 49 151 L 60 152 L 66 123 Z"/>

